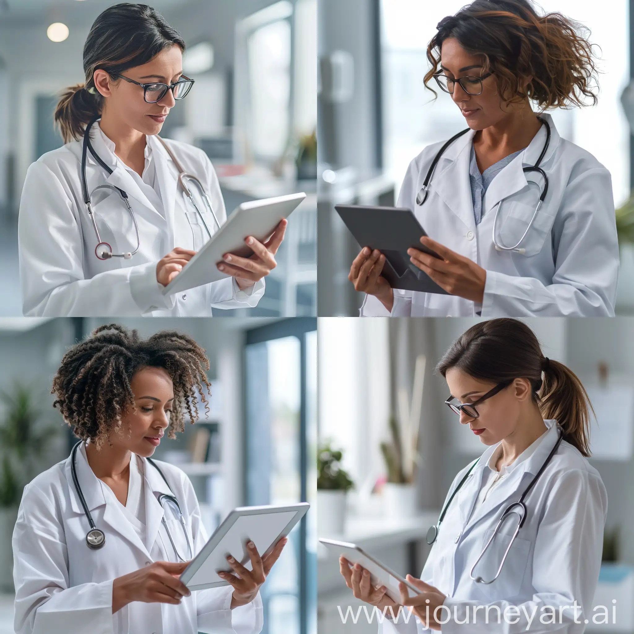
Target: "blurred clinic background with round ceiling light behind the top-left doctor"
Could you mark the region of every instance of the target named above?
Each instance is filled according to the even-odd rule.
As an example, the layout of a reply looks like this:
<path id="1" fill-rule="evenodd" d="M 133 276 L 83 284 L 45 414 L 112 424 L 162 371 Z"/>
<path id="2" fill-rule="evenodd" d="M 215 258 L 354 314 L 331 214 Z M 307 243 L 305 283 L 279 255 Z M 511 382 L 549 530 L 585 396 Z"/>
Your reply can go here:
<path id="1" fill-rule="evenodd" d="M 0 315 L 22 314 L 16 217 L 29 165 L 62 145 L 57 94 L 84 81 L 82 49 L 104 0 L 0 0 Z M 224 316 L 316 314 L 317 0 L 150 2 L 188 46 L 196 84 L 162 136 L 214 164 L 227 213 L 306 191 L 256 308 Z M 248 311 L 248 312 L 247 312 Z"/>

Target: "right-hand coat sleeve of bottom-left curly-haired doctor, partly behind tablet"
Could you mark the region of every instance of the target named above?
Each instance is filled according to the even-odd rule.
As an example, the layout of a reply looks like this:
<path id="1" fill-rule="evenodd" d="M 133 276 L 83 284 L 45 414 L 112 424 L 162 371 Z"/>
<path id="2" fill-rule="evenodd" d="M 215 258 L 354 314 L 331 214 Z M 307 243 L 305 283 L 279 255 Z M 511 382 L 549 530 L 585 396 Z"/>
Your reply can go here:
<path id="1" fill-rule="evenodd" d="M 200 517 L 200 507 L 189 479 L 185 482 L 187 508 L 191 509 L 191 534 L 194 538 L 194 553 L 204 547 L 209 537 Z M 231 609 L 231 586 L 196 590 L 196 612 L 198 630 L 210 634 L 258 634 L 264 624 L 262 598 L 256 598 L 247 605 Z"/>

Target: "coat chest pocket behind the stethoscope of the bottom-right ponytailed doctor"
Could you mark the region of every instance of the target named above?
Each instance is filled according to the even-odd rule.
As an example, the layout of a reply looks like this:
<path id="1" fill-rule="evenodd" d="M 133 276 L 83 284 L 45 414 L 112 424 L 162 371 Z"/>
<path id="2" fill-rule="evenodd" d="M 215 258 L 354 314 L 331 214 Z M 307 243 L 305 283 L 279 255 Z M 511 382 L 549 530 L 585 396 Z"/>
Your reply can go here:
<path id="1" fill-rule="evenodd" d="M 493 529 L 489 529 L 484 533 L 482 549 L 484 549 L 486 543 L 488 543 L 491 535 L 493 535 Z M 475 567 L 473 571 L 474 577 L 480 576 L 484 581 L 490 581 L 495 577 L 511 538 L 512 533 L 496 534 L 493 541 L 489 544 L 486 553 L 484 553 L 484 556 Z M 495 593 L 498 598 L 511 598 L 519 594 L 522 581 L 524 580 L 524 573 L 526 573 L 528 553 L 530 550 L 530 541 L 522 540 L 519 537 L 515 538 L 500 571 L 500 576 L 491 584 L 491 587 L 495 588 Z M 488 588 L 489 586 L 483 585 L 482 587 Z"/>

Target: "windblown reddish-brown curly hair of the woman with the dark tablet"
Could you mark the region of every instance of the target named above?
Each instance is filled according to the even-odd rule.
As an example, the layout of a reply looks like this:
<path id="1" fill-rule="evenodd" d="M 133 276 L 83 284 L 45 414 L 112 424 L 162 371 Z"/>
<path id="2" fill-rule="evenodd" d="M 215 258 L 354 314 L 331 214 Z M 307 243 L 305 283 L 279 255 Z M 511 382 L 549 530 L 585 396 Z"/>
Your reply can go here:
<path id="1" fill-rule="evenodd" d="M 495 75 L 508 103 L 529 97 L 541 110 L 586 105 L 582 96 L 597 103 L 590 84 L 597 72 L 590 31 L 561 13 L 538 15 L 529 0 L 475 0 L 436 28 L 427 46 L 432 68 L 425 75 L 434 94 L 427 82 L 438 69 L 443 42 L 455 37 L 466 51 L 484 57 L 482 74 Z"/>

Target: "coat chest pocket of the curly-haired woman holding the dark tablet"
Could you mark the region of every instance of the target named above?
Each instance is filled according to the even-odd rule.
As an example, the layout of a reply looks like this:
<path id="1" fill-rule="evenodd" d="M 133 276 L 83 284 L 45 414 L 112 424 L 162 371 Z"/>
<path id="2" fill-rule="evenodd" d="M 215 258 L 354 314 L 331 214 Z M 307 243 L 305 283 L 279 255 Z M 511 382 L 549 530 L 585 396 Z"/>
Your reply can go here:
<path id="1" fill-rule="evenodd" d="M 547 205 L 543 204 L 537 212 L 533 224 L 531 219 L 535 213 L 538 204 L 538 196 L 524 194 L 530 202 L 522 200 L 513 200 L 507 198 L 503 200 L 496 223 L 496 242 L 502 247 L 513 247 L 519 242 L 524 231 L 530 225 L 522 242 L 517 247 L 524 249 L 524 257 L 536 256 L 541 252 L 546 242 L 546 238 L 550 235 L 555 217 L 548 212 Z M 495 213 L 495 211 L 493 212 Z M 516 252 L 514 252 L 514 255 Z"/>

